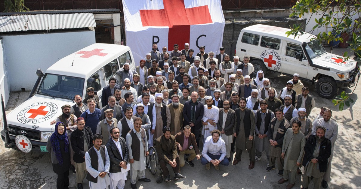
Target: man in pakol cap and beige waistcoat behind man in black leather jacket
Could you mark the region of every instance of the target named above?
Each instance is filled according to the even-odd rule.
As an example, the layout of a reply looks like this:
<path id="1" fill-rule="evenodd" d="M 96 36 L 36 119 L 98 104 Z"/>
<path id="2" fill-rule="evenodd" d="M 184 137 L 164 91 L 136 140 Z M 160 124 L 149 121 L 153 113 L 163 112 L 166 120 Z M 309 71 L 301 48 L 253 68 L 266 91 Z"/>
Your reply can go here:
<path id="1" fill-rule="evenodd" d="M 103 143 L 102 145 L 105 145 L 108 143 L 109 139 L 111 138 L 109 134 L 109 130 L 113 127 L 117 127 L 117 119 L 113 118 L 113 112 L 112 109 L 107 109 L 104 111 L 105 113 L 105 119 L 101 120 L 98 125 L 96 126 L 96 133 L 101 134 L 103 136 Z"/>

